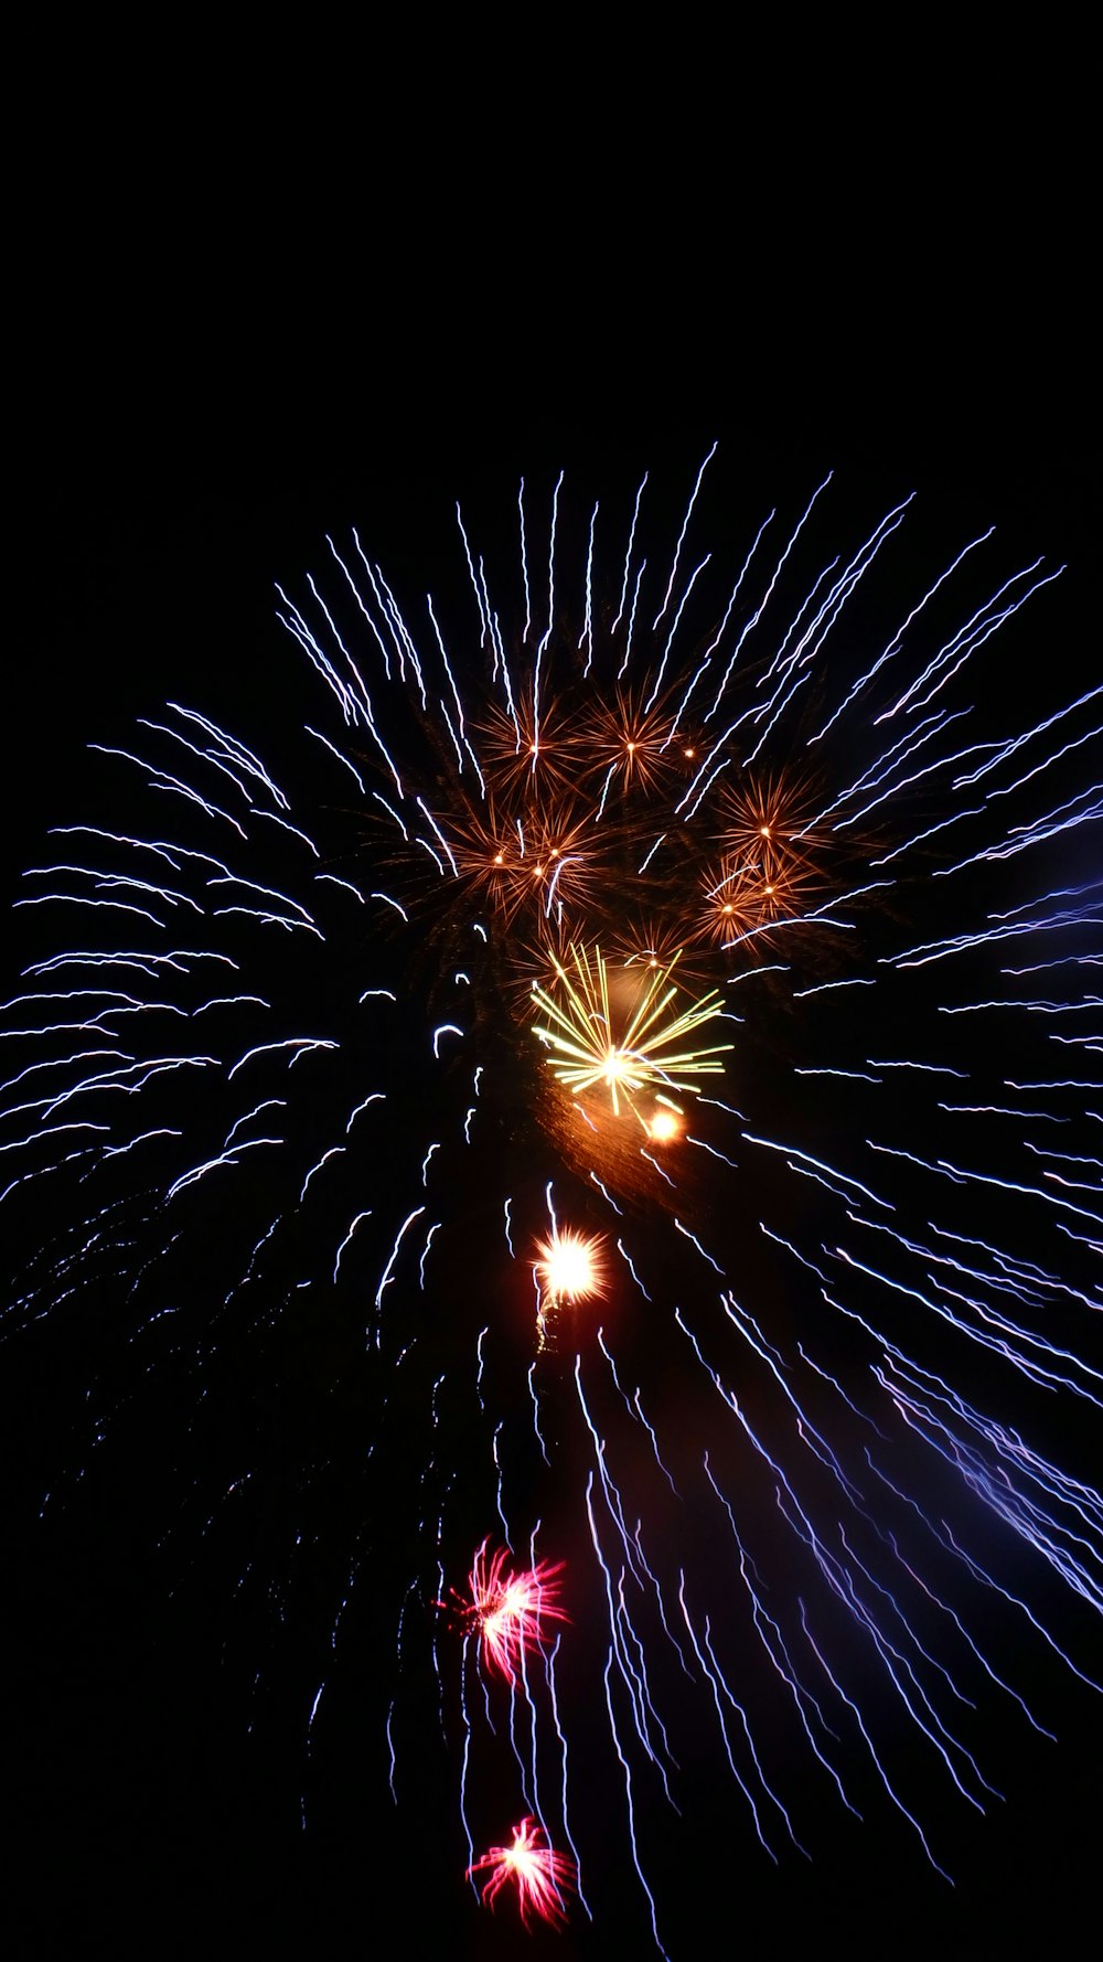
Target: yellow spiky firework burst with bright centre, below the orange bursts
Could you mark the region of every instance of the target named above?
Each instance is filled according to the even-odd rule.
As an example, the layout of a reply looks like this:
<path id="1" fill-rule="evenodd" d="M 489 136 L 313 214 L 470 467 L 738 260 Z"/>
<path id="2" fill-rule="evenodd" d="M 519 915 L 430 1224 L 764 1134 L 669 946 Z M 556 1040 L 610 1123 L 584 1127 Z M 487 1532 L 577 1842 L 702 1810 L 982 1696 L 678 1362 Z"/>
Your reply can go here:
<path id="1" fill-rule="evenodd" d="M 565 1089 L 577 1097 L 604 1087 L 620 1116 L 620 1099 L 636 1110 L 644 1091 L 695 1091 L 697 1077 L 724 1069 L 720 1058 L 732 1044 L 701 1048 L 695 1040 L 724 1005 L 710 993 L 681 1008 L 675 963 L 677 954 L 657 969 L 610 969 L 599 948 L 579 946 L 567 950 L 565 961 L 553 959 L 555 993 L 532 989 L 542 1014 L 534 1034 Z"/>

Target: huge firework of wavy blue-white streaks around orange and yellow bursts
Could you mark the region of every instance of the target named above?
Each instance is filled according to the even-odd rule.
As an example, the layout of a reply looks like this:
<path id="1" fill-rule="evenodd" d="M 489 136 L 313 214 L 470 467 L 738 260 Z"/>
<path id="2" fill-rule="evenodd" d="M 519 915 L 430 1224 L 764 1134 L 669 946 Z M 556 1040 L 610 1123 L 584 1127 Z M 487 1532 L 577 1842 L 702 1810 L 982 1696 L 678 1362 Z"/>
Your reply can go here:
<path id="1" fill-rule="evenodd" d="M 709 469 L 669 536 L 648 487 L 524 490 L 493 557 L 459 514 L 446 598 L 332 540 L 283 767 L 188 704 L 120 740 L 4 1010 L 4 1205 L 55 1222 L 10 1324 L 124 1303 L 108 1442 L 194 1379 L 177 1544 L 290 1485 L 241 1587 L 326 1568 L 312 1748 L 371 1654 L 457 1874 L 536 1821 L 601 1925 L 616 1831 L 659 1948 L 701 1760 L 748 1858 L 881 1805 L 952 1876 L 985 1711 L 1046 1729 L 1001 1648 L 1101 1674 L 1103 695 L 999 687 L 1054 567 L 985 536 L 901 596 L 907 508 L 846 540 L 830 483 L 718 545 Z M 483 1544 L 567 1560 L 506 1683 L 434 1611 Z"/>

